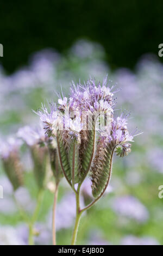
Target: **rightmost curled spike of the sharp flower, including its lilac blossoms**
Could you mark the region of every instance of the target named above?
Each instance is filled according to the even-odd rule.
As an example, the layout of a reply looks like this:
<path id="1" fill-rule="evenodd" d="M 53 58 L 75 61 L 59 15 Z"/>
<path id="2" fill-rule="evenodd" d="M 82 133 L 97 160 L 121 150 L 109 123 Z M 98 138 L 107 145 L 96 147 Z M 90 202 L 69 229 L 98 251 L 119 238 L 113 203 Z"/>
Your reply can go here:
<path id="1" fill-rule="evenodd" d="M 123 114 L 101 132 L 91 168 L 93 196 L 99 196 L 109 182 L 114 151 L 120 157 L 127 156 L 131 152 L 128 142 L 133 142 L 134 136 L 129 133 L 127 115 L 123 117 Z"/>

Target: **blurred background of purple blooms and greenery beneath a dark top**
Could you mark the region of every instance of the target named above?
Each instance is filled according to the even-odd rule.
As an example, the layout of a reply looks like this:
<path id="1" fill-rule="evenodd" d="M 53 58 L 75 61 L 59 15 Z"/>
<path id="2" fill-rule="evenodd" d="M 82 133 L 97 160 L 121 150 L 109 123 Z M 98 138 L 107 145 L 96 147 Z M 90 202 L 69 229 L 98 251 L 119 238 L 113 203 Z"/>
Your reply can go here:
<path id="1" fill-rule="evenodd" d="M 108 193 L 83 216 L 78 244 L 162 245 L 163 198 L 163 57 L 161 1 L 2 1 L 0 33 L 0 137 L 15 136 L 24 125 L 37 126 L 32 109 L 68 95 L 70 82 L 108 74 L 116 94 L 117 113 L 130 111 L 130 130 L 139 127 L 131 154 L 114 157 Z M 1 148 L 1 145 L 0 145 Z M 25 145 L 20 149 L 25 186 L 16 192 L 26 211 L 33 210 L 37 186 Z M 28 228 L 12 198 L 12 187 L 0 166 L 0 244 L 25 245 Z M 83 186 L 83 204 L 90 197 Z M 45 191 L 35 243 L 51 244 L 53 193 Z M 62 180 L 57 209 L 57 241 L 70 244 L 75 201 Z"/>

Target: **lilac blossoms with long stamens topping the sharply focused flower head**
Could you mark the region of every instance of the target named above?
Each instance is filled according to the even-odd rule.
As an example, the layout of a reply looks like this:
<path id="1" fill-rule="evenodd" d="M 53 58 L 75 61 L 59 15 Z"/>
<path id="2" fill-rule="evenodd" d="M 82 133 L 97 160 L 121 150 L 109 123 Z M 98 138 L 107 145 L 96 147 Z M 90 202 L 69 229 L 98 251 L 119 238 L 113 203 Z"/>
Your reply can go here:
<path id="1" fill-rule="evenodd" d="M 66 130 L 66 136 L 74 136 L 80 142 L 80 132 L 92 129 L 92 119 L 96 120 L 96 130 L 101 137 L 107 138 L 108 142 L 115 145 L 122 144 L 123 151 L 129 153 L 130 144 L 134 134 L 127 129 L 127 115 L 123 114 L 114 119 L 114 93 L 113 87 L 108 87 L 108 78 L 104 77 L 102 83 L 90 78 L 86 83 L 72 82 L 71 94 L 67 98 L 63 95 L 58 99 L 58 105 L 49 104 L 49 111 L 46 106 L 41 107 L 35 113 L 40 116 L 45 124 L 48 136 L 56 135 L 57 130 Z M 101 125 L 97 122 L 101 118 Z M 88 121 L 91 120 L 91 121 Z M 104 125 L 106 120 L 106 125 Z"/>

